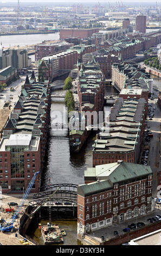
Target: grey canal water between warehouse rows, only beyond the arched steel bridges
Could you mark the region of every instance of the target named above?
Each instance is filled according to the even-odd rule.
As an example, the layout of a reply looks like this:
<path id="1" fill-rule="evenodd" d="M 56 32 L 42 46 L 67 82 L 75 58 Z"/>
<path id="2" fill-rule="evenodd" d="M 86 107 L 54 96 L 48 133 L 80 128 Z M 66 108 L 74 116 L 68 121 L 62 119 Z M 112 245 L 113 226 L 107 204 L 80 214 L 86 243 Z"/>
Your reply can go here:
<path id="1" fill-rule="evenodd" d="M 114 88 L 107 86 L 105 89 L 105 95 L 108 93 L 115 93 Z M 64 102 L 53 101 L 50 112 L 51 121 L 53 111 L 60 111 L 62 113 L 64 108 Z M 104 111 L 109 111 L 109 109 L 110 106 L 104 106 Z M 58 119 L 57 123 L 59 123 L 59 120 L 60 119 Z M 87 167 L 92 167 L 92 145 L 94 144 L 95 139 L 95 134 L 89 136 L 80 153 L 74 154 L 69 151 L 68 133 L 62 130 L 56 131 L 51 129 L 48 147 L 48 161 L 43 184 L 48 185 L 49 179 L 51 184 L 63 182 L 72 182 L 73 184 L 84 183 L 84 170 Z"/>

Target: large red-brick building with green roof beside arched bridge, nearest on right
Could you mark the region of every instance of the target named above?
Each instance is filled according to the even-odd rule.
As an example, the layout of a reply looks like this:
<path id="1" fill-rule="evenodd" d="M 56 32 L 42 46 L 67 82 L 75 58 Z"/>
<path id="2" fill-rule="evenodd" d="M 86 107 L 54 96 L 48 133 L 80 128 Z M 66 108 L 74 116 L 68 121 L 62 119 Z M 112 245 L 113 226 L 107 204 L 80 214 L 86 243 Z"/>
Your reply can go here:
<path id="1" fill-rule="evenodd" d="M 89 182 L 89 183 L 88 183 Z M 85 170 L 78 186 L 78 239 L 153 210 L 152 170 L 142 164 L 102 164 Z"/>

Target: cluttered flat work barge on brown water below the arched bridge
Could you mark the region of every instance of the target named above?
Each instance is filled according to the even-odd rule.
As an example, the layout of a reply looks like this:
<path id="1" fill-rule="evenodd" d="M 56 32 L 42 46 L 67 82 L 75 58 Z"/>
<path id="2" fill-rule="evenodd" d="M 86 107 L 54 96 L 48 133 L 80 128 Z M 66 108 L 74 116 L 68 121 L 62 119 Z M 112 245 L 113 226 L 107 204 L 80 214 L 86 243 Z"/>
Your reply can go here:
<path id="1" fill-rule="evenodd" d="M 51 225 L 47 223 L 47 225 L 43 225 L 41 227 L 41 234 L 45 245 L 64 242 L 59 225 L 57 224 Z"/>

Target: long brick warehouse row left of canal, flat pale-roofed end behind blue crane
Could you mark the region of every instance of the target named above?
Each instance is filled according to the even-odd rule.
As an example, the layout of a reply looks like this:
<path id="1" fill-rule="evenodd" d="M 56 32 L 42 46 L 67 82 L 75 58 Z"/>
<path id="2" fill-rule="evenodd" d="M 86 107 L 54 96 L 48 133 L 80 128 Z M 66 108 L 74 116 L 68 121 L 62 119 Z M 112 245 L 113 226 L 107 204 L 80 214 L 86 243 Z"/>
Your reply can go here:
<path id="1" fill-rule="evenodd" d="M 26 190 L 34 173 L 40 171 L 32 192 L 38 192 L 50 118 L 48 81 L 24 84 L 0 143 L 0 185 L 2 193 Z"/>

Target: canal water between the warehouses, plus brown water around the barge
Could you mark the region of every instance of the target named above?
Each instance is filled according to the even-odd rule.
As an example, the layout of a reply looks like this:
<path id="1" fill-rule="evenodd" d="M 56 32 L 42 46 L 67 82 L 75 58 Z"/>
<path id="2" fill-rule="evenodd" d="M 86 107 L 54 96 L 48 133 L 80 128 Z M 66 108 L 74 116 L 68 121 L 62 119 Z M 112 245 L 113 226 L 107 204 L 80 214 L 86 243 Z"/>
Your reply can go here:
<path id="1" fill-rule="evenodd" d="M 108 86 L 105 88 L 105 95 L 108 93 L 116 93 L 114 88 Z M 53 111 L 60 111 L 63 113 L 65 103 L 63 101 L 52 101 L 51 103 L 51 123 L 53 118 Z M 104 106 L 104 112 L 109 111 L 110 106 Z M 55 113 L 55 112 L 54 112 Z M 54 114 L 55 115 L 55 114 Z M 60 116 L 57 117 L 57 123 L 61 120 Z M 55 119 L 54 119 L 55 120 Z M 96 135 L 91 135 L 88 137 L 87 142 L 81 149 L 80 153 L 74 154 L 69 151 L 69 138 L 68 132 L 62 130 L 52 130 L 52 125 L 50 129 L 50 138 L 48 145 L 48 159 L 46 167 L 44 168 L 46 172 L 43 177 L 43 185 L 57 184 L 57 183 L 73 183 L 73 184 L 83 184 L 84 183 L 84 170 L 87 167 L 92 167 L 92 145 L 96 139 Z M 48 213 L 47 213 L 48 215 Z M 40 223 L 47 224 L 49 222 L 49 217 L 42 218 Z M 67 236 L 64 237 L 63 245 L 78 245 L 77 240 L 77 220 L 76 219 L 62 219 L 60 216 L 56 216 L 51 223 L 59 224 L 60 228 L 64 228 L 67 232 Z M 28 235 L 36 240 L 41 245 L 43 244 L 41 231 L 38 229 L 36 222 L 30 225 L 28 230 Z"/>

